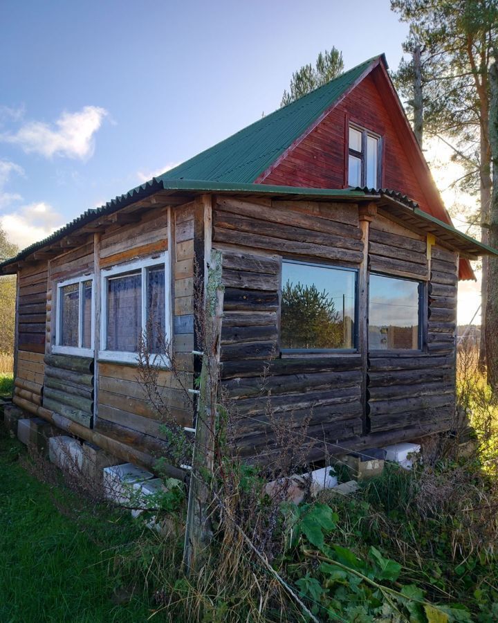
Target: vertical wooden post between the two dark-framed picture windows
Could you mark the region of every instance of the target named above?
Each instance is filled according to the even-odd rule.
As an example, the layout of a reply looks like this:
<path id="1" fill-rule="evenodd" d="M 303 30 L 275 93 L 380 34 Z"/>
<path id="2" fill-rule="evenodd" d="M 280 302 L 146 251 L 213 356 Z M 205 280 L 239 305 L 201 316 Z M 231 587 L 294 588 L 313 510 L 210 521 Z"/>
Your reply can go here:
<path id="1" fill-rule="evenodd" d="M 369 226 L 377 214 L 376 204 L 360 205 L 360 230 L 363 242 L 363 258 L 358 271 L 358 350 L 362 362 L 362 405 L 363 405 L 363 435 L 370 432 L 370 421 L 367 413 L 367 366 L 368 366 L 368 254 L 369 254 Z"/>

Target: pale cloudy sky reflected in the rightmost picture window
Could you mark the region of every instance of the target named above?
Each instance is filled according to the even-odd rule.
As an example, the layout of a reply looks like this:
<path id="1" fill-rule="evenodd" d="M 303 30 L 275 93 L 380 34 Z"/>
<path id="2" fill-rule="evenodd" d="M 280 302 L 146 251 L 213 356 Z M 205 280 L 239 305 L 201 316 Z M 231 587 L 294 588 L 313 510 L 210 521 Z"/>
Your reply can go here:
<path id="1" fill-rule="evenodd" d="M 418 325 L 418 283 L 371 275 L 369 324 Z"/>

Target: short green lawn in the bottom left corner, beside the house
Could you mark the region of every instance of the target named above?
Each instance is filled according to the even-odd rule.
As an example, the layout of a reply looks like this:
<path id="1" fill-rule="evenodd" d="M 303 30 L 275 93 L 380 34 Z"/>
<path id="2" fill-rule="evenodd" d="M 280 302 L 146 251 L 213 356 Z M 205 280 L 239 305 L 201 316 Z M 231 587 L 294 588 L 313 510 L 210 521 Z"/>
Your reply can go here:
<path id="1" fill-rule="evenodd" d="M 110 564 L 140 535 L 129 514 L 89 509 L 31 476 L 25 457 L 0 424 L 0 621 L 146 621 L 143 593 L 119 603 L 127 579 Z"/>

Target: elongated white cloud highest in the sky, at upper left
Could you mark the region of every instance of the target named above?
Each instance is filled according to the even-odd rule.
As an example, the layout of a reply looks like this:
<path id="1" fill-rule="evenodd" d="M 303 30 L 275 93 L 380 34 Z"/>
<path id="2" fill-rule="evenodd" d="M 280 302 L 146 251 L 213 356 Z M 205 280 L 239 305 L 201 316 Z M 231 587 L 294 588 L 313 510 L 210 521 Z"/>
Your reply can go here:
<path id="1" fill-rule="evenodd" d="M 85 106 L 78 112 L 62 113 L 52 125 L 28 121 L 15 134 L 1 135 L 0 140 L 19 145 L 27 154 L 86 160 L 93 154 L 94 135 L 106 115 L 104 108 Z"/>

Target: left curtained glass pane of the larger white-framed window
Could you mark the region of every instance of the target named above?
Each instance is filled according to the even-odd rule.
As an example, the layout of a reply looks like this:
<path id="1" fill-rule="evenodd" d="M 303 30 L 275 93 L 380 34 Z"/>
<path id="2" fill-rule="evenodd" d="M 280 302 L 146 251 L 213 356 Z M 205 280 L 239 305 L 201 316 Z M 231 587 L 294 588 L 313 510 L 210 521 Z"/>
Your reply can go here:
<path id="1" fill-rule="evenodd" d="M 142 334 L 142 273 L 107 280 L 107 350 L 138 352 Z"/>

